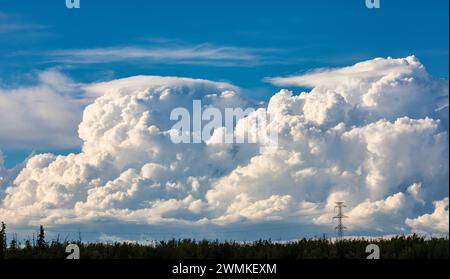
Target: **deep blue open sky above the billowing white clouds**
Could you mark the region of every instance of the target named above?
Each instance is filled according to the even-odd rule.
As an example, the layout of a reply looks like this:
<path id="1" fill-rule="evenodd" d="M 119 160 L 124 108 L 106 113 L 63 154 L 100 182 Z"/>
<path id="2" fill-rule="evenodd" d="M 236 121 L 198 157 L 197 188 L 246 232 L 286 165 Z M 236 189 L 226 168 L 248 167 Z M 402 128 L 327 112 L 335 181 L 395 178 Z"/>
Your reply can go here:
<path id="1" fill-rule="evenodd" d="M 410 54 L 433 76 L 448 78 L 449 2 L 381 5 L 82 0 L 81 9 L 69 10 L 64 0 L 0 0 L 0 82 L 33 83 L 34 73 L 53 68 L 83 83 L 138 74 L 187 76 L 228 81 L 267 100 L 276 88 L 265 77 Z M 99 55 L 105 50 L 111 55 Z M 6 165 L 34 148 L 3 146 Z"/>

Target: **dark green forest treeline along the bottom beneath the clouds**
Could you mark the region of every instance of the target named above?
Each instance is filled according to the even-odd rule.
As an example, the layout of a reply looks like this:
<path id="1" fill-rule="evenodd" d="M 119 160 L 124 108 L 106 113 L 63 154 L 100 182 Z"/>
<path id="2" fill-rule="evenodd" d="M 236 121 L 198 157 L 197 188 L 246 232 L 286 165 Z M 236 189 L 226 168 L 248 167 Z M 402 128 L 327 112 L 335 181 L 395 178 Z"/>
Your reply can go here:
<path id="1" fill-rule="evenodd" d="M 382 259 L 448 259 L 448 238 L 425 238 L 418 235 L 391 239 L 353 239 L 333 242 L 326 238 L 301 239 L 285 243 L 259 240 L 210 241 L 172 239 L 152 245 L 139 243 L 86 243 L 46 240 L 44 227 L 36 239 L 19 242 L 0 230 L 0 259 L 65 259 L 67 245 L 80 248 L 81 259 L 365 259 L 366 246 L 376 244 Z"/>

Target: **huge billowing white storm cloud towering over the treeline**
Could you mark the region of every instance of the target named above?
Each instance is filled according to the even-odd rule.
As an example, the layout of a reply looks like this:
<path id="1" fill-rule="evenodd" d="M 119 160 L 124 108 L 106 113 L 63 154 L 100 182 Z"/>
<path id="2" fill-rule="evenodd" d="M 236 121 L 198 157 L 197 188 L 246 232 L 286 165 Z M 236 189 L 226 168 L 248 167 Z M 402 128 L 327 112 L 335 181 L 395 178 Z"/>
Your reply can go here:
<path id="1" fill-rule="evenodd" d="M 110 220 L 202 235 L 284 223 L 319 235 L 342 200 L 355 234 L 448 234 L 448 81 L 413 56 L 266 81 L 311 88 L 283 89 L 264 107 L 278 131 L 270 154 L 213 140 L 221 129 L 201 144 L 172 143 L 174 108 L 252 106 L 233 85 L 137 76 L 86 86 L 99 97 L 79 125 L 82 151 L 31 157 L 1 188 L 0 215 L 15 227 Z"/>

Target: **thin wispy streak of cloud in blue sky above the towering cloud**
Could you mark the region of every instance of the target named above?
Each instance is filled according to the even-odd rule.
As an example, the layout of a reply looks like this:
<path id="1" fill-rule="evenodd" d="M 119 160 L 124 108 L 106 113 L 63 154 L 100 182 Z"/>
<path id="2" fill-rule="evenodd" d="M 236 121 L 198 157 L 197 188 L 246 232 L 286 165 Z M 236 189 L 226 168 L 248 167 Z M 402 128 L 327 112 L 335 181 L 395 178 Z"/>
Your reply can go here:
<path id="1" fill-rule="evenodd" d="M 268 63 L 276 49 L 220 46 L 209 43 L 157 42 L 150 46 L 53 50 L 46 53 L 52 62 L 92 64 L 146 62 L 155 64 L 196 64 L 208 66 L 254 66 Z"/>

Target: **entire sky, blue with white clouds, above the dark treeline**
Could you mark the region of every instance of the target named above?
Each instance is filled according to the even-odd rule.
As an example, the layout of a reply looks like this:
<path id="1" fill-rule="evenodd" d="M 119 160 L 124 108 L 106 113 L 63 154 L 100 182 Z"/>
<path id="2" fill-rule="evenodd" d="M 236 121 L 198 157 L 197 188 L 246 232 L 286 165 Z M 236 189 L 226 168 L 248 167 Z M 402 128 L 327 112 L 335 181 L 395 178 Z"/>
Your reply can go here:
<path id="1" fill-rule="evenodd" d="M 55 231 L 73 230 L 67 221 L 71 216 L 78 218 L 78 227 L 106 238 L 108 231 L 129 233 L 114 229 L 120 221 L 133 223 L 136 230 L 162 222 L 166 226 L 158 229 L 164 236 L 186 224 L 193 235 L 204 235 L 208 225 L 213 236 L 214 230 L 228 230 L 240 238 L 260 227 L 286 226 L 283 234 L 265 235 L 285 239 L 317 231 L 331 234 L 332 228 L 320 226 L 328 222 L 332 201 L 356 191 L 342 184 L 360 183 L 365 190 L 347 197 L 349 210 L 354 218 L 376 224 L 375 234 L 434 233 L 432 226 L 448 233 L 448 221 L 441 222 L 442 216 L 448 219 L 448 162 L 443 161 L 448 159 L 448 5 L 447 0 L 381 0 L 380 9 L 368 9 L 364 0 L 81 0 L 80 9 L 67 9 L 64 0 L 0 0 L 0 212 L 11 219 L 19 208 L 50 216 L 19 218 L 13 225 L 24 230 L 35 222 L 47 222 Z M 152 106 L 167 112 L 190 101 L 182 85 L 192 93 L 189 98 L 217 94 L 215 101 L 205 103 L 251 102 L 279 114 L 278 124 L 287 125 L 292 136 L 280 141 L 288 153 L 260 157 L 242 147 L 239 156 L 229 158 L 223 155 L 231 152 L 225 147 L 219 152 L 214 146 L 216 153 L 192 147 L 187 148 L 192 153 L 179 153 L 187 161 L 203 160 L 204 166 L 199 163 L 199 170 L 183 173 L 181 166 L 172 169 L 174 163 L 164 159 L 177 158 L 175 151 L 164 153 L 173 148 L 164 141 L 150 135 L 118 141 L 118 135 L 131 136 L 115 125 L 136 132 L 130 123 L 137 125 L 140 118 L 131 114 L 129 123 L 122 123 L 114 122 L 114 113 L 110 119 L 104 115 L 112 108 L 135 109 L 136 90 L 159 96 L 158 86 L 171 88 L 179 100 L 170 99 L 167 107 L 149 101 L 144 107 L 150 115 Z M 225 89 L 239 94 L 225 100 Z M 303 91 L 310 97 L 298 97 Z M 167 129 L 165 119 L 149 121 Z M 296 128 L 290 126 L 294 122 Z M 299 127 L 306 130 L 297 134 L 303 131 Z M 398 132 L 405 147 L 386 131 Z M 335 138 L 328 138 L 333 133 Z M 380 138 L 370 138 L 370 133 Z M 309 145 L 297 142 L 302 140 Z M 139 154 L 143 148 L 133 142 L 155 148 L 160 157 L 144 152 L 139 159 L 128 158 L 127 152 Z M 333 151 L 349 142 L 365 149 L 353 157 Z M 413 151 L 419 147 L 423 154 Z M 390 165 L 389 152 L 395 155 L 390 160 L 398 159 L 401 166 Z M 225 157 L 219 164 L 211 154 Z M 292 160 L 280 163 L 286 156 Z M 412 159 L 426 164 L 407 163 Z M 272 164 L 285 164 L 291 171 L 280 170 L 281 189 L 259 174 Z M 392 173 L 395 167 L 400 169 Z M 61 173 L 65 168 L 69 174 Z M 256 174 L 261 180 L 249 180 Z M 327 179 L 308 178 L 311 174 Z M 117 186 L 120 181 L 130 182 L 131 188 Z M 286 188 L 298 183 L 324 187 L 327 196 L 314 187 Z M 150 184 L 183 190 L 136 190 Z M 200 190 L 186 190 L 187 184 Z M 238 184 L 248 189 L 237 190 Z M 258 187 L 265 189 L 261 196 L 255 194 Z M 44 190 L 48 195 L 42 195 Z M 138 194 L 142 199 L 134 196 Z M 227 204 L 218 205 L 221 199 Z M 382 209 L 386 207 L 397 215 Z M 125 209 L 130 212 L 121 211 Z M 145 210 L 152 217 L 142 217 Z M 292 211 L 298 211 L 294 217 L 287 213 Z M 295 218 L 305 214 L 309 217 L 302 229 L 289 229 L 297 228 Z M 397 217 L 388 220 L 386 214 Z M 114 215 L 120 220 L 113 220 Z M 103 229 L 92 228 L 95 218 L 104 220 Z M 353 225 L 355 234 L 374 234 L 367 224 Z"/>

